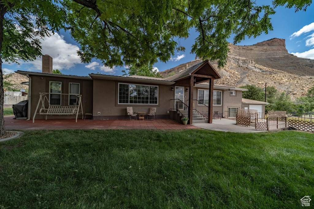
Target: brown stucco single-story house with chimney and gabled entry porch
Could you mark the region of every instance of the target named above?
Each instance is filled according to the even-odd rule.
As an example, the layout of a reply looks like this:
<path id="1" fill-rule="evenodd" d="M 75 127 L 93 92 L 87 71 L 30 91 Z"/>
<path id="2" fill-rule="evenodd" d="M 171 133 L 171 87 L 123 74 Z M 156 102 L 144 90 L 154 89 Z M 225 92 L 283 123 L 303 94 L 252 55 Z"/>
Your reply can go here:
<path id="1" fill-rule="evenodd" d="M 156 107 L 157 119 L 170 118 L 174 112 L 179 112 L 190 119 L 190 124 L 199 119 L 211 123 L 214 111 L 223 116 L 247 105 L 242 102 L 242 91 L 247 89 L 214 85 L 214 79 L 220 76 L 208 60 L 168 78 L 93 73 L 89 76 L 60 75 L 52 73 L 52 58 L 49 55 L 44 55 L 42 62 L 43 72 L 16 71 L 29 78 L 29 119 L 35 114 L 40 93 L 48 93 L 44 101 L 46 107 L 75 106 L 77 95 L 82 95 L 83 113 L 90 114 L 93 120 L 127 119 L 126 107 L 132 106 L 134 112 L 146 114 L 150 107 Z M 44 117 L 36 115 L 36 119 Z"/>

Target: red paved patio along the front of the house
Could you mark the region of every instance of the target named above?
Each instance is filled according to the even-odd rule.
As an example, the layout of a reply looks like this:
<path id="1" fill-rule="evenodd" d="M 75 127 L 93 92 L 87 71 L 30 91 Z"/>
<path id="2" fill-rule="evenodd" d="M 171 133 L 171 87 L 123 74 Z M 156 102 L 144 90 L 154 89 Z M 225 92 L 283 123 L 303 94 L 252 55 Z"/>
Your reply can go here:
<path id="1" fill-rule="evenodd" d="M 82 120 L 78 119 L 48 119 L 48 120 L 15 120 L 14 116 L 5 116 L 7 130 L 61 130 L 61 129 L 191 129 L 192 125 L 183 125 L 171 119 L 144 121 L 130 120 Z"/>

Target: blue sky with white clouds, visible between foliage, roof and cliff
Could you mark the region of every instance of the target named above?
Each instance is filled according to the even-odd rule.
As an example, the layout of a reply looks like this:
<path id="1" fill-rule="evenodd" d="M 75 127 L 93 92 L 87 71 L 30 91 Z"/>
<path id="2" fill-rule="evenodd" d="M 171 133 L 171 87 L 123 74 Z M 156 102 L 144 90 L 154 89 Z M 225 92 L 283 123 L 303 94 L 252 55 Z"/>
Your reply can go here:
<path id="1" fill-rule="evenodd" d="M 263 2 L 266 3 L 266 2 Z M 307 8 L 306 12 L 295 13 L 294 9 L 284 7 L 276 8 L 276 14 L 272 15 L 273 31 L 268 34 L 262 34 L 257 38 L 245 39 L 239 45 L 252 45 L 257 42 L 271 38 L 281 38 L 286 40 L 286 48 L 289 53 L 295 56 L 314 59 L 314 3 Z M 170 69 L 182 63 L 194 60 L 195 55 L 190 54 L 191 46 L 197 33 L 190 31 L 190 37 L 186 40 L 180 40 L 186 48 L 185 52 L 178 52 L 168 62 L 157 62 L 154 67 L 159 71 Z M 229 39 L 232 42 L 232 37 Z M 99 60 L 92 60 L 89 64 L 80 62 L 76 51 L 78 44 L 71 38 L 68 32 L 52 35 L 42 41 L 42 53 L 49 54 L 53 58 L 53 69 L 59 69 L 64 74 L 83 75 L 89 73 L 102 72 L 109 75 L 121 75 L 124 67 L 114 67 L 110 69 L 102 66 Z M 41 58 L 34 62 L 20 62 L 17 64 L 3 63 L 5 73 L 16 70 L 29 70 L 41 72 Z"/>

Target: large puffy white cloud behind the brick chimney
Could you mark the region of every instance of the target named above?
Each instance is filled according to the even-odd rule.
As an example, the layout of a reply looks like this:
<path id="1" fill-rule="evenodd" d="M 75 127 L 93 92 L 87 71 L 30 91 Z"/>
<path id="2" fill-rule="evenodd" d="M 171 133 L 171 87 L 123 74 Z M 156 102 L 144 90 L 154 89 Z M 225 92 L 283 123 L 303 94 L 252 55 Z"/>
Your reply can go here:
<path id="1" fill-rule="evenodd" d="M 52 35 L 51 33 L 50 37 L 40 39 L 42 47 L 41 53 L 52 57 L 53 69 L 69 69 L 81 63 L 81 59 L 77 55 L 77 51 L 79 50 L 78 46 L 67 43 L 63 38 L 63 35 L 57 33 Z M 29 63 L 33 64 L 36 70 L 41 71 L 41 58 Z"/>

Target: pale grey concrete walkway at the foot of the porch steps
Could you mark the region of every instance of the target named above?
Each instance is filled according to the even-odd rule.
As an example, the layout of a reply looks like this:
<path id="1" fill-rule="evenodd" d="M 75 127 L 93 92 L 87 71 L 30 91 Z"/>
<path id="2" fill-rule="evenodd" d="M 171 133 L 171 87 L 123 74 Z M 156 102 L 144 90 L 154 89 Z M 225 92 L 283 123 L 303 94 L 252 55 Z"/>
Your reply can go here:
<path id="1" fill-rule="evenodd" d="M 237 133 L 256 133 L 256 132 L 264 132 L 264 131 L 256 131 L 254 126 L 246 127 L 246 126 L 238 126 L 236 125 L 236 121 L 229 119 L 213 119 L 213 123 L 196 123 L 193 126 L 208 129 L 212 131 L 225 131 L 225 132 L 237 132 Z"/>

